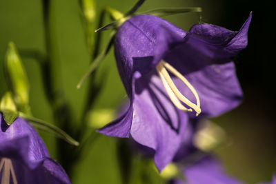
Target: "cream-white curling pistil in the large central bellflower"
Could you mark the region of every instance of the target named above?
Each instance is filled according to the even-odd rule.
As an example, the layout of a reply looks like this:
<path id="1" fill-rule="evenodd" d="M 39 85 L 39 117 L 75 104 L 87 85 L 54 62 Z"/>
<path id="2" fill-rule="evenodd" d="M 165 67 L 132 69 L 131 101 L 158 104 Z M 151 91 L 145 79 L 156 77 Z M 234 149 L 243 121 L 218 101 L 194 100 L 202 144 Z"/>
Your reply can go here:
<path id="1" fill-rule="evenodd" d="M 190 89 L 190 91 L 195 96 L 197 105 L 195 105 L 195 103 L 188 100 L 183 94 L 181 94 L 181 92 L 179 92 L 175 83 L 173 83 L 173 81 L 170 77 L 170 74 L 168 74 L 168 71 L 166 69 L 168 69 L 170 72 L 172 72 L 172 74 L 177 76 L 177 78 L 179 78 Z M 184 112 L 192 111 L 191 109 L 185 108 L 184 105 L 182 105 L 180 103 L 180 101 L 182 101 L 183 103 L 188 105 L 190 108 L 193 108 L 193 110 L 195 110 L 195 112 L 197 112 L 196 115 L 201 113 L 199 96 L 198 96 L 195 88 L 193 88 L 193 85 L 191 85 L 182 74 L 180 74 L 175 68 L 173 68 L 172 65 L 170 65 L 169 63 L 166 63 L 163 60 L 161 60 L 158 63 L 158 65 L 156 66 L 156 70 L 161 78 L 161 81 L 164 85 L 164 88 L 166 89 L 166 92 L 168 93 L 168 96 L 170 97 L 170 100 L 177 108 L 179 108 L 180 110 L 182 110 Z"/>

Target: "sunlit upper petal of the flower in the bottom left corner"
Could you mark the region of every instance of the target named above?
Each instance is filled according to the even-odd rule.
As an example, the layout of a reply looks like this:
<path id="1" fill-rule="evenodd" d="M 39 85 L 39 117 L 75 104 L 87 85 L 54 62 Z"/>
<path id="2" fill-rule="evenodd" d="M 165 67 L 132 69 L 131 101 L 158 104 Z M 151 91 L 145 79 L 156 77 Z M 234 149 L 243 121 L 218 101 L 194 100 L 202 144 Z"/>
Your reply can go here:
<path id="1" fill-rule="evenodd" d="M 46 146 L 29 123 L 17 118 L 10 126 L 1 118 L 0 155 L 10 159 L 21 159 L 31 169 L 49 157 Z"/>

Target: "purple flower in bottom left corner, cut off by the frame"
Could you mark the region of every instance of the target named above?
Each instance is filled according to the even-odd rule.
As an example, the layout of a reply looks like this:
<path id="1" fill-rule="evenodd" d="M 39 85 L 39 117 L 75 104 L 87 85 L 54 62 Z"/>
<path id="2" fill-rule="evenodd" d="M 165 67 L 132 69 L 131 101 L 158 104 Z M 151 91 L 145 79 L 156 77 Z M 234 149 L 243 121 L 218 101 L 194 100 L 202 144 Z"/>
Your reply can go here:
<path id="1" fill-rule="evenodd" d="M 21 118 L 10 126 L 0 114 L 0 183 L 68 184 L 62 167 L 50 158 L 34 128 Z"/>

